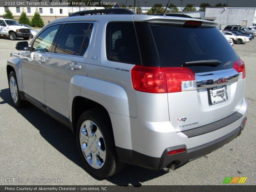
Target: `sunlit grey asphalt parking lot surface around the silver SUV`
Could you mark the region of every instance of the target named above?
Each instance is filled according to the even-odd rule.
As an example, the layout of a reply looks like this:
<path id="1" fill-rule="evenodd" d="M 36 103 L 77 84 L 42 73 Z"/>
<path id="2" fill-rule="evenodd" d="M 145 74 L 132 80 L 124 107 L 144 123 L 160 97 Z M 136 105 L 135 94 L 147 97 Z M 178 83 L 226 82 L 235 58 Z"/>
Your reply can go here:
<path id="1" fill-rule="evenodd" d="M 225 177 L 235 176 L 248 177 L 244 185 L 256 185 L 256 40 L 234 45 L 246 65 L 245 97 L 249 104 L 247 124 L 238 138 L 170 173 L 127 165 L 106 180 L 84 170 L 68 128 L 32 105 L 13 108 L 5 66 L 18 41 L 0 39 L 0 185 L 31 184 L 6 183 L 7 177 L 62 179 L 61 183 L 33 183 L 49 185 L 222 185 Z"/>

